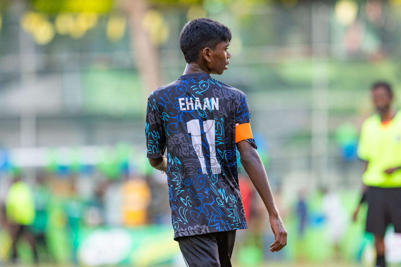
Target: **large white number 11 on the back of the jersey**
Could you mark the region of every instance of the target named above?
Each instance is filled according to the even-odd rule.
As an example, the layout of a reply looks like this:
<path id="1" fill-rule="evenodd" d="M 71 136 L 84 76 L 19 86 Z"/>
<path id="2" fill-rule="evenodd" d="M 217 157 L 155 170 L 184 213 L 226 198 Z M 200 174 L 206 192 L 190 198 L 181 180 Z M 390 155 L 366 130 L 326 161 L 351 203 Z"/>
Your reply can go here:
<path id="1" fill-rule="evenodd" d="M 201 126 L 199 120 L 190 120 L 186 123 L 188 133 L 191 134 L 192 146 L 195 149 L 199 162 L 201 163 L 202 173 L 207 174 L 205 155 L 202 153 Z M 210 165 L 213 174 L 221 173 L 221 166 L 216 158 L 215 144 L 215 120 L 206 120 L 203 122 L 203 130 L 206 134 L 207 143 L 209 143 Z"/>

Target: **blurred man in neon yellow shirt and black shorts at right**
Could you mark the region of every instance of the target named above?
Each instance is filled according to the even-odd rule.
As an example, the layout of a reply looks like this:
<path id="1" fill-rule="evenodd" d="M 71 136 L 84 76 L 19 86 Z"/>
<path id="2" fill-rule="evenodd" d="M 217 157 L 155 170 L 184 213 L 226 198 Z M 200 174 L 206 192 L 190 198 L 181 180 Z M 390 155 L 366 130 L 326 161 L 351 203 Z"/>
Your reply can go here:
<path id="1" fill-rule="evenodd" d="M 388 83 L 373 84 L 372 97 L 377 114 L 362 124 L 358 157 L 366 162 L 366 231 L 375 235 L 376 266 L 383 267 L 387 226 L 392 223 L 401 233 L 401 115 L 391 107 L 393 90 Z"/>

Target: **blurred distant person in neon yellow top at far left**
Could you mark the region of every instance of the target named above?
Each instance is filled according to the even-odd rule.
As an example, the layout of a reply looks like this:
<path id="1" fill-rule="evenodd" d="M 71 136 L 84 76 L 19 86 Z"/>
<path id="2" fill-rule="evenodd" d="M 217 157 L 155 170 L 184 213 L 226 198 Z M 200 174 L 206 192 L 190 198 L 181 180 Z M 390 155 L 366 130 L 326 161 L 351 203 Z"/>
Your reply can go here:
<path id="1" fill-rule="evenodd" d="M 20 179 L 19 171 L 14 171 L 14 181 L 6 196 L 6 219 L 12 238 L 12 260 L 17 259 L 17 242 L 25 238 L 38 262 L 35 240 L 29 231 L 29 226 L 35 219 L 35 206 L 32 190 L 29 185 Z"/>

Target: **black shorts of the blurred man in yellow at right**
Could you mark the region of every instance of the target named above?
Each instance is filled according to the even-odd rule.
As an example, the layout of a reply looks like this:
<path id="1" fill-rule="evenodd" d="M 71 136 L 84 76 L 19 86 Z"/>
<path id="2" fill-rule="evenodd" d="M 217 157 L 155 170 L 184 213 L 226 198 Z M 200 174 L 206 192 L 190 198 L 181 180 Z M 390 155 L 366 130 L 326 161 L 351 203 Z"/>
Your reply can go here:
<path id="1" fill-rule="evenodd" d="M 384 236 L 387 226 L 392 223 L 395 232 L 401 233 L 401 187 L 369 187 L 367 201 L 367 232 Z"/>

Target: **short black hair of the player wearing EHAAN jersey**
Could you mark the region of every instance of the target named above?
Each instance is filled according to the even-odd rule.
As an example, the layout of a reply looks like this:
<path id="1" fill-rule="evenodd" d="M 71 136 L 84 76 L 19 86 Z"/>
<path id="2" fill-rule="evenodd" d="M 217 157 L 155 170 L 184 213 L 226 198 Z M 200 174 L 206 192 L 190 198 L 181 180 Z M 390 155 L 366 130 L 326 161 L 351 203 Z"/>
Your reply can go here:
<path id="1" fill-rule="evenodd" d="M 210 47 L 215 50 L 221 42 L 231 42 L 232 33 L 227 26 L 210 18 L 188 21 L 180 34 L 180 48 L 186 63 L 198 60 L 199 52 Z"/>

